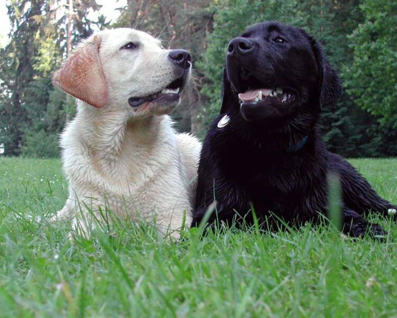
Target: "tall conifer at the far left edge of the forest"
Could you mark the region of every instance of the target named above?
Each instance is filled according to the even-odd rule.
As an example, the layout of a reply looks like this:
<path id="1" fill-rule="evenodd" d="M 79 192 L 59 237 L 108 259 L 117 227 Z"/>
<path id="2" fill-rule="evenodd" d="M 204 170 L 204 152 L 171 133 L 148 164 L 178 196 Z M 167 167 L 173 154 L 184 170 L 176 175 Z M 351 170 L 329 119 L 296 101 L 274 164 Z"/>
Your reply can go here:
<path id="1" fill-rule="evenodd" d="M 40 24 L 35 16 L 42 14 L 44 0 L 13 1 L 7 5 L 12 25 L 12 41 L 0 51 L 2 71 L 1 91 L 5 101 L 1 105 L 2 140 L 5 155 L 18 155 L 22 142 L 22 131 L 28 124 L 23 107 L 24 93 L 33 79 L 33 58 L 37 53 L 34 37 Z M 27 4 L 30 4 L 30 7 Z"/>

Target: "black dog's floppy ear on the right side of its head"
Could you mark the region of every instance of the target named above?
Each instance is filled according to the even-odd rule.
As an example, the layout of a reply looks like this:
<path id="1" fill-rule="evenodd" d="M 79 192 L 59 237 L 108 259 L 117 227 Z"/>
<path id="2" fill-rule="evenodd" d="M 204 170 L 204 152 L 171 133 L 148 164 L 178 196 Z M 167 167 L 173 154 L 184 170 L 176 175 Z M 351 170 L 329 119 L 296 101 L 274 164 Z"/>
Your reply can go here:
<path id="1" fill-rule="evenodd" d="M 320 107 L 335 103 L 342 95 L 341 80 L 335 69 L 326 60 L 324 51 L 316 39 L 311 39 L 312 50 L 320 73 L 319 99 Z"/>

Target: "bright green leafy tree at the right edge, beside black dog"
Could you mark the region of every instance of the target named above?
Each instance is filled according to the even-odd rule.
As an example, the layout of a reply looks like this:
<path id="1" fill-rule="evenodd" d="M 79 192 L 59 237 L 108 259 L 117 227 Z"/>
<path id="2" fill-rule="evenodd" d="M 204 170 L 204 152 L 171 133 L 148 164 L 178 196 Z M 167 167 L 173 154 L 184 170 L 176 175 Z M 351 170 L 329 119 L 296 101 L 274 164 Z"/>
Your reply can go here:
<path id="1" fill-rule="evenodd" d="M 365 21 L 348 37 L 354 59 L 345 86 L 358 106 L 397 128 L 397 3 L 364 0 L 360 9 Z"/>

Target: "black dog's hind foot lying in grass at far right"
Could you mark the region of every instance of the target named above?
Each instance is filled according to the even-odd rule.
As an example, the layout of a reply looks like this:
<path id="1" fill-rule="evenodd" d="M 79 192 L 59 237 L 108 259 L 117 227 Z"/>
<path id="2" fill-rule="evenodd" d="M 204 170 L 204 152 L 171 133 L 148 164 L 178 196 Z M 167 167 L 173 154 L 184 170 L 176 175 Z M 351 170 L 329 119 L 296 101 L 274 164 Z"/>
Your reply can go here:
<path id="1" fill-rule="evenodd" d="M 343 233 L 352 237 L 363 237 L 368 233 L 370 237 L 382 239 L 387 232 L 379 224 L 370 223 L 356 211 L 343 209 Z"/>

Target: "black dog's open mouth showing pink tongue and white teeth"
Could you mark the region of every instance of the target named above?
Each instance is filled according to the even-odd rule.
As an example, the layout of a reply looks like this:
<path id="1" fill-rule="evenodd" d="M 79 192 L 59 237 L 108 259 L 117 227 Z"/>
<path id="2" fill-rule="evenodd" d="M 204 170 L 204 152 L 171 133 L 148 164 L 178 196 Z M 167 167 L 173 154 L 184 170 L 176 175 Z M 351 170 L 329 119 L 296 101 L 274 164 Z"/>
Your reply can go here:
<path id="1" fill-rule="evenodd" d="M 282 87 L 276 88 L 257 88 L 257 89 L 247 89 L 244 93 L 239 93 L 240 104 L 242 103 L 280 103 L 289 104 L 295 101 L 295 94 Z"/>

